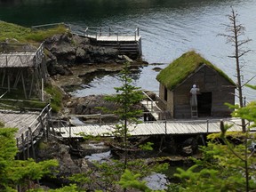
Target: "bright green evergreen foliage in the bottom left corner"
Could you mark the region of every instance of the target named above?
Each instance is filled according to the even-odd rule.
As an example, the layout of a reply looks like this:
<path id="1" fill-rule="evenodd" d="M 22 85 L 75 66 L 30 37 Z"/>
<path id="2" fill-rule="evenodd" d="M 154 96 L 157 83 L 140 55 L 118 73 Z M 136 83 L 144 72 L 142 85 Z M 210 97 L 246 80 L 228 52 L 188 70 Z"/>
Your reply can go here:
<path id="1" fill-rule="evenodd" d="M 18 149 L 14 140 L 17 129 L 0 129 L 0 190 L 12 191 L 16 185 L 26 186 L 30 180 L 39 180 L 58 165 L 55 160 L 36 163 L 32 159 L 15 160 Z"/>

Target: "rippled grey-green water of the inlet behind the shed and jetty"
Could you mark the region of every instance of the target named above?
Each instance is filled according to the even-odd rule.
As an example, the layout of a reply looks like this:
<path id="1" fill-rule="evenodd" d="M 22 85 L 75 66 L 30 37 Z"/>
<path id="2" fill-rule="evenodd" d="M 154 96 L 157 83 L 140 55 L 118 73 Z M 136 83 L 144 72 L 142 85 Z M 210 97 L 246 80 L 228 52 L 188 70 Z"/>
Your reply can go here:
<path id="1" fill-rule="evenodd" d="M 196 50 L 236 82 L 235 60 L 228 59 L 233 49 L 224 37 L 218 36 L 225 33 L 221 24 L 228 24 L 231 5 L 239 13 L 245 35 L 252 39 L 247 48 L 253 52 L 244 57 L 246 82 L 256 74 L 255 0 L 9 0 L 0 1 L 0 20 L 23 26 L 63 21 L 82 27 L 140 28 L 143 59 L 149 63 L 170 63 L 182 53 Z M 141 70 L 136 85 L 158 90 L 157 72 L 152 68 Z M 103 76 L 74 94 L 111 93 L 118 85 L 116 76 Z M 255 99 L 254 91 L 246 89 L 245 93 L 247 100 Z"/>

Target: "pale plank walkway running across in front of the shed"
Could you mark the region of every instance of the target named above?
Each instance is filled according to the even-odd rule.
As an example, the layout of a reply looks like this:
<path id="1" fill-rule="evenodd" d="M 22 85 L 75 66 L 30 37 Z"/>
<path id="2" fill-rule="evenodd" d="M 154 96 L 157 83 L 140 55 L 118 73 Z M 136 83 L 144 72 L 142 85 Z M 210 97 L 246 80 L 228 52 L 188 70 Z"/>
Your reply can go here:
<path id="1" fill-rule="evenodd" d="M 233 124 L 229 131 L 242 131 L 240 119 L 224 119 L 224 124 Z M 63 138 L 81 138 L 84 135 L 108 137 L 114 136 L 115 124 L 84 124 L 81 126 L 67 126 L 56 128 Z M 180 121 L 154 121 L 142 124 L 128 125 L 131 136 L 153 135 L 182 135 L 220 132 L 220 119 L 180 120 Z"/>

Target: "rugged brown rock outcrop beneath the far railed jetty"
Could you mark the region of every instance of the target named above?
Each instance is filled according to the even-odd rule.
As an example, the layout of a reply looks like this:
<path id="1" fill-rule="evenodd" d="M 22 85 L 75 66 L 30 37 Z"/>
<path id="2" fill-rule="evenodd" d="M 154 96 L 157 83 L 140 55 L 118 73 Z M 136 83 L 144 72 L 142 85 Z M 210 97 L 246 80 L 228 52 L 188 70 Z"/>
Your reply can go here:
<path id="1" fill-rule="evenodd" d="M 47 68 L 51 76 L 68 75 L 69 67 L 79 64 L 116 63 L 120 60 L 116 49 L 94 46 L 86 37 L 63 34 L 44 41 Z"/>

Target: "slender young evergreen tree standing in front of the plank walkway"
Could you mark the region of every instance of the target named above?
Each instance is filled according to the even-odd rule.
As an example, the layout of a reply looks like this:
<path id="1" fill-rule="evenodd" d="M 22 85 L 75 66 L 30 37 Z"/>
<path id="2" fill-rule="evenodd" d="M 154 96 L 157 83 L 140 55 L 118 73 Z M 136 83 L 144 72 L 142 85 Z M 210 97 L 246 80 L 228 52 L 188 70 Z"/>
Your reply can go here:
<path id="1" fill-rule="evenodd" d="M 136 105 L 143 100 L 144 96 L 140 91 L 140 87 L 136 87 L 132 84 L 132 78 L 129 76 L 129 63 L 125 63 L 124 69 L 121 72 L 120 81 L 123 84 L 121 87 L 115 87 L 116 95 L 107 96 L 105 100 L 116 103 L 117 108 L 109 111 L 110 113 L 118 116 L 119 122 L 116 124 L 114 135 L 116 138 L 121 139 L 121 148 L 124 149 L 124 170 L 127 168 L 127 151 L 129 148 L 129 125 L 133 125 L 132 129 L 136 127 L 136 124 L 140 123 L 138 116 L 142 114 L 142 110 L 136 108 Z"/>

